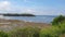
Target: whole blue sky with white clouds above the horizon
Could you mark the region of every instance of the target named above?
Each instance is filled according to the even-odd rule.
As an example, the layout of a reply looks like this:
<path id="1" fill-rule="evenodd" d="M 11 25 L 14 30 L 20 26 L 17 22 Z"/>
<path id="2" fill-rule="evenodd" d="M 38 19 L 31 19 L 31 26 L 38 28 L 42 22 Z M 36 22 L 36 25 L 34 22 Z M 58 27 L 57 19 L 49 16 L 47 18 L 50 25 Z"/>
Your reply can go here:
<path id="1" fill-rule="evenodd" d="M 65 0 L 0 0 L 0 13 L 65 15 Z"/>

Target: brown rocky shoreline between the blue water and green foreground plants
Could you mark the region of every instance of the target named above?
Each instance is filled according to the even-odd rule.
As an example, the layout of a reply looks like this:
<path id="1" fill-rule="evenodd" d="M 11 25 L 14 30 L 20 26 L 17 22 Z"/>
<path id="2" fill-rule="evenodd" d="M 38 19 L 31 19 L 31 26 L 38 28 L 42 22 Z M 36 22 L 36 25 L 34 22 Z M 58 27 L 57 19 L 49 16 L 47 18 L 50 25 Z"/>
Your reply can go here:
<path id="1" fill-rule="evenodd" d="M 49 27 L 50 24 L 47 23 L 32 23 L 32 22 L 25 22 L 25 21 L 17 21 L 17 20 L 0 20 L 0 29 L 8 32 L 17 27 Z"/>

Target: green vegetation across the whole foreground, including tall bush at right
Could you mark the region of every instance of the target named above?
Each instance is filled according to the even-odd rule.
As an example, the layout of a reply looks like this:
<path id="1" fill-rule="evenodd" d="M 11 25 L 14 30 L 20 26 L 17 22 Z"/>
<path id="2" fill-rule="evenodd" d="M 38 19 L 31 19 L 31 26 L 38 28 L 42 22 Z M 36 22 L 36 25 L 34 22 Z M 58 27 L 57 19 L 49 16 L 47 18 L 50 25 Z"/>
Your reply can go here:
<path id="1" fill-rule="evenodd" d="M 55 17 L 50 27 L 39 28 L 28 26 L 15 28 L 9 33 L 0 32 L 0 37 L 62 37 L 63 35 L 65 35 L 65 16 L 63 15 Z"/>

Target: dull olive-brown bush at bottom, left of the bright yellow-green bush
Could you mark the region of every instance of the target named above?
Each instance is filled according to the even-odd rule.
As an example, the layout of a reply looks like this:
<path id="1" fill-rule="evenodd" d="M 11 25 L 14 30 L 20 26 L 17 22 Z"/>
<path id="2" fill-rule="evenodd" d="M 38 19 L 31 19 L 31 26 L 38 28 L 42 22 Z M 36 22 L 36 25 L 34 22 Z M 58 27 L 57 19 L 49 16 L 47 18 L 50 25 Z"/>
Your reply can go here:
<path id="1" fill-rule="evenodd" d="M 39 28 L 36 27 L 25 27 L 12 30 L 10 33 L 11 37 L 39 37 Z"/>

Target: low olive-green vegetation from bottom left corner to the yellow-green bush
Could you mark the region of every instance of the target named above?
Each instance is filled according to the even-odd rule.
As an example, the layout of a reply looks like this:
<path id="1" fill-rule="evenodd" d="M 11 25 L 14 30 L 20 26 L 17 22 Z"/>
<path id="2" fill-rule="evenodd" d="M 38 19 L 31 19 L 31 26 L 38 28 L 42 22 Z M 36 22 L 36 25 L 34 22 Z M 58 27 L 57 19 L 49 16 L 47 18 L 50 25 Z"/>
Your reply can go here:
<path id="1" fill-rule="evenodd" d="M 0 32 L 0 37 L 39 37 L 40 28 L 38 27 L 23 27 L 11 32 Z"/>

